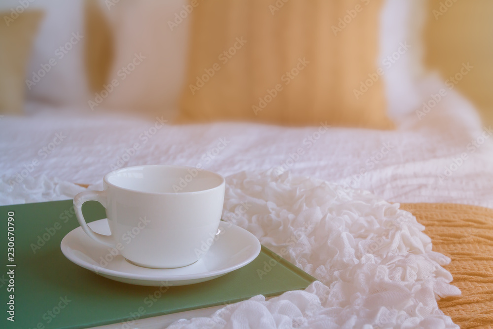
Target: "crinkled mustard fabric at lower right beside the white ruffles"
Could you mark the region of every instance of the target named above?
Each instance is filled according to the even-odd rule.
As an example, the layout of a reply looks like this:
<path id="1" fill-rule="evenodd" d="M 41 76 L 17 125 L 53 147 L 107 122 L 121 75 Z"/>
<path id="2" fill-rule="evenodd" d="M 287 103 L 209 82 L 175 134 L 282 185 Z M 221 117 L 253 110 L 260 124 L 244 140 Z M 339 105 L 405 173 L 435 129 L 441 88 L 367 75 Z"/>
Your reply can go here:
<path id="1" fill-rule="evenodd" d="M 421 203 L 401 204 L 425 226 L 433 250 L 452 258 L 444 265 L 461 296 L 446 297 L 440 309 L 462 329 L 493 327 L 493 210 Z"/>

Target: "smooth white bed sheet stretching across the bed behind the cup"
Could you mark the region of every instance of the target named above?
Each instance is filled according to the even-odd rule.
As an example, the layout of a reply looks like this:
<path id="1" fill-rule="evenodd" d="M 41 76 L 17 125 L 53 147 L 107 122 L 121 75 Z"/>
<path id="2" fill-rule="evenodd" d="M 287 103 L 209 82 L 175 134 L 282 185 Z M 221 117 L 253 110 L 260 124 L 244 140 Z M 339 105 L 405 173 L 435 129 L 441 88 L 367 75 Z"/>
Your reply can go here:
<path id="1" fill-rule="evenodd" d="M 423 84 L 423 101 L 440 87 L 438 82 Z M 71 183 L 102 187 L 103 175 L 120 165 L 201 165 L 228 176 L 284 164 L 283 169 L 294 175 L 366 189 L 390 202 L 493 207 L 492 132 L 482 127 L 467 101 L 449 92 L 421 120 L 413 112 L 399 121 L 392 131 L 211 123 L 164 125 L 152 135 L 158 121 L 131 117 L 67 117 L 52 109 L 25 118 L 3 117 L 0 204 L 70 198 L 80 190 Z M 59 142 L 54 141 L 56 134 L 63 141 L 48 154 L 43 147 Z M 482 134 L 488 138 L 479 145 Z M 471 146 L 477 139 L 479 147 Z M 135 143 L 139 147 L 134 154 Z M 291 162 L 289 154 L 300 148 L 303 154 Z M 382 149 L 389 149 L 388 154 L 378 160 Z M 467 159 L 446 177 L 446 166 L 456 169 L 454 159 L 463 154 Z M 128 161 L 118 162 L 122 158 Z M 31 166 L 35 160 L 37 165 Z M 32 171 L 28 173 L 26 166 Z M 19 175 L 27 177 L 21 180 Z"/>

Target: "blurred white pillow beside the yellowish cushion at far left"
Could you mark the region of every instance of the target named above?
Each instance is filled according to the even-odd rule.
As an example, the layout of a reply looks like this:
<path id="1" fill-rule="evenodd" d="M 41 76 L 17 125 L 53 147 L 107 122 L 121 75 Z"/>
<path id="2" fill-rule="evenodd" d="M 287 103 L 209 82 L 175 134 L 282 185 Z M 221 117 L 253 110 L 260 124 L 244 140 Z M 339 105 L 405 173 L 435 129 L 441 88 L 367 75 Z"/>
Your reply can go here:
<path id="1" fill-rule="evenodd" d="M 44 9 L 45 16 L 27 69 L 28 100 L 55 106 L 85 104 L 89 90 L 84 64 L 84 1 L 36 0 L 31 5 Z"/>

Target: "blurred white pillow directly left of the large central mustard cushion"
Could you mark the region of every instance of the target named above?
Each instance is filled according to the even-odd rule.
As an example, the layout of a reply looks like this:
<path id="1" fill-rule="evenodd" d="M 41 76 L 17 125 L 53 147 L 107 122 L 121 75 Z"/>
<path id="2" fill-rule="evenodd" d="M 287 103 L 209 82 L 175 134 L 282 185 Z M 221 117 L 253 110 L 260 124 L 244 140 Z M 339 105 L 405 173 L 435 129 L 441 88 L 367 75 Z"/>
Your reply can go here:
<path id="1" fill-rule="evenodd" d="M 93 104 L 94 110 L 139 110 L 173 117 L 185 77 L 191 17 L 183 6 L 190 11 L 188 1 L 110 0 L 102 1 L 102 6 L 112 22 L 115 38 L 115 58 L 108 82 L 116 80 L 117 85 L 108 86 L 112 90 L 107 94 L 91 96 L 92 101 L 103 96 L 98 99 L 99 104 Z M 176 24 L 180 12 L 185 18 Z M 169 21 L 176 26 L 170 27 Z"/>

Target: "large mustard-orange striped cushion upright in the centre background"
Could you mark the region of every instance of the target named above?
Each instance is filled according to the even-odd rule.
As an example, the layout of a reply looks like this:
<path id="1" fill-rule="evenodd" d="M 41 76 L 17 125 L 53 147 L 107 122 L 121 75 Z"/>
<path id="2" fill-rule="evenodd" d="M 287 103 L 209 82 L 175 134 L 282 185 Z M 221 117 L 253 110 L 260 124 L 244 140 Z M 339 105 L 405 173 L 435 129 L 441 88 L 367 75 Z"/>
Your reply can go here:
<path id="1" fill-rule="evenodd" d="M 382 3 L 200 2 L 182 117 L 392 127 L 377 67 Z"/>

